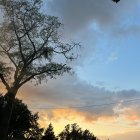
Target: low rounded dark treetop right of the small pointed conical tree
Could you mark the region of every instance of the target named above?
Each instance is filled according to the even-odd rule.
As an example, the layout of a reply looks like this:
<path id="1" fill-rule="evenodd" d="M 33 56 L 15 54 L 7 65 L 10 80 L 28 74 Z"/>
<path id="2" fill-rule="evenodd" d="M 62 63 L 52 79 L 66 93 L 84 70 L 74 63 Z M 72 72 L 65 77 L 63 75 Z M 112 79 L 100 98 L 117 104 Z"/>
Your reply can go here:
<path id="1" fill-rule="evenodd" d="M 97 140 L 89 130 L 83 131 L 76 123 L 68 124 L 58 137 L 60 140 Z"/>

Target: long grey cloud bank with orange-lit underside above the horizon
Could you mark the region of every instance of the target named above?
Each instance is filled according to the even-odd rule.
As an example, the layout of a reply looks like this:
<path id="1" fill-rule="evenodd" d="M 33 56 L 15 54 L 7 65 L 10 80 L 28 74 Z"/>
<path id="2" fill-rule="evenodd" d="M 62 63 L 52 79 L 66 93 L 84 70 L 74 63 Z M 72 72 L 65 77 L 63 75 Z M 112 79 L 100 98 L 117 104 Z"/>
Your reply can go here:
<path id="1" fill-rule="evenodd" d="M 49 112 L 52 120 L 59 120 L 61 114 L 65 114 L 66 118 L 77 114 L 85 121 L 93 122 L 120 116 L 130 121 L 140 119 L 139 100 L 135 100 L 140 99 L 140 92 L 133 89 L 113 92 L 67 75 L 49 81 L 47 86 L 44 84 L 38 89 L 30 87 L 24 92 L 24 100 L 28 102 L 30 99 L 30 108 Z M 59 115 L 56 115 L 57 112 Z"/>

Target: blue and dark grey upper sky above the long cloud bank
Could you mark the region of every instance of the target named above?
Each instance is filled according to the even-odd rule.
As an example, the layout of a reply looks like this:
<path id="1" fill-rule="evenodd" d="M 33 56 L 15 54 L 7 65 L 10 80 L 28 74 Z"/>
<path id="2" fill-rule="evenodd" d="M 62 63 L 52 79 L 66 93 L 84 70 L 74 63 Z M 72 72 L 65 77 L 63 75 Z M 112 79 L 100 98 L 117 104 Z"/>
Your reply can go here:
<path id="1" fill-rule="evenodd" d="M 139 1 L 50 0 L 47 13 L 64 23 L 66 40 L 83 51 L 75 70 L 81 80 L 107 89 L 140 90 Z M 129 75 L 129 76 L 128 76 Z"/>

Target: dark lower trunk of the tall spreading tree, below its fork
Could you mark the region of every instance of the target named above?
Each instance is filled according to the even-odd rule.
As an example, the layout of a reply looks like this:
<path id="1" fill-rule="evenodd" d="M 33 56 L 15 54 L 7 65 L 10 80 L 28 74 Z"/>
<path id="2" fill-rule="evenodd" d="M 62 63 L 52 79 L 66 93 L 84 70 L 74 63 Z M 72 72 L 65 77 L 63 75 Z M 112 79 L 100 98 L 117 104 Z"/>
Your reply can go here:
<path id="1" fill-rule="evenodd" d="M 8 92 L 4 96 L 4 102 L 0 110 L 0 139 L 8 139 L 8 128 L 12 115 L 13 104 L 16 93 Z"/>

